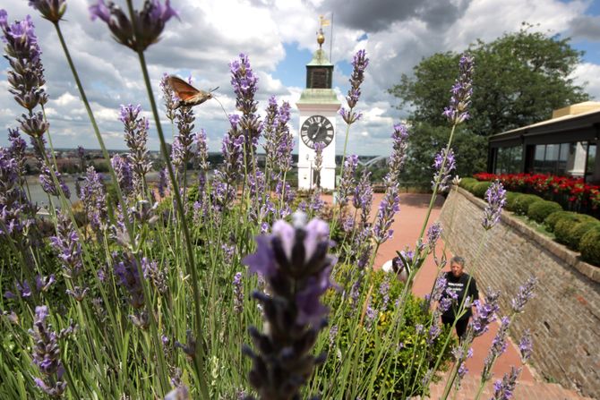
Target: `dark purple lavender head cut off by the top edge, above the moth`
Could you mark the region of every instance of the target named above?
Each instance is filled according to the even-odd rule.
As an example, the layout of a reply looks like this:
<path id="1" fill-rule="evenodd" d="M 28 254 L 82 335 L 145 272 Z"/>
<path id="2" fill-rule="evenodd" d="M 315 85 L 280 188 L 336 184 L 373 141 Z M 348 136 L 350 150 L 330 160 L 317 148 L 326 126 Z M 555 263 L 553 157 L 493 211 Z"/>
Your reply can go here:
<path id="1" fill-rule="evenodd" d="M 171 17 L 179 19 L 169 0 L 165 0 L 165 5 L 160 4 L 159 0 L 146 0 L 141 11 L 133 11 L 133 23 L 113 2 L 105 4 L 104 0 L 99 0 L 97 4 L 90 5 L 89 9 L 91 21 L 96 18 L 105 21 L 113 38 L 136 52 L 142 52 L 158 42 L 160 33 Z"/>

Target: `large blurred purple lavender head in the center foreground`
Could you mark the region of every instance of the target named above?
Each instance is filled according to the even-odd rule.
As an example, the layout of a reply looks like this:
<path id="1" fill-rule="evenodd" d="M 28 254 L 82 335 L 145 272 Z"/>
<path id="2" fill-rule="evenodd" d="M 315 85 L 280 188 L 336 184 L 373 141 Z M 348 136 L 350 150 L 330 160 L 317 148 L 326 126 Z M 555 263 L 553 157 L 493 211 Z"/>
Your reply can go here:
<path id="1" fill-rule="evenodd" d="M 272 234 L 256 238 L 255 253 L 244 258 L 250 272 L 267 282 L 267 293 L 254 292 L 261 302 L 270 331 L 261 334 L 251 328 L 256 353 L 250 382 L 262 398 L 295 398 L 324 356 L 315 358 L 311 349 L 325 324 L 327 309 L 320 297 L 330 287 L 330 272 L 336 260 L 327 252 L 329 227 L 321 220 L 304 222 L 295 214 L 294 226 L 283 220 Z"/>

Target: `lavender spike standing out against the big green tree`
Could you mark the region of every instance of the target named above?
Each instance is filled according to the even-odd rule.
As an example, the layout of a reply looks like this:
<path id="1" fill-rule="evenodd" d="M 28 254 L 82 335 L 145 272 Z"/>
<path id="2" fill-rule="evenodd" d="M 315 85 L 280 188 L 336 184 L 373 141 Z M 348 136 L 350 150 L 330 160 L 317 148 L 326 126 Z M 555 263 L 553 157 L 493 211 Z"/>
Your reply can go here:
<path id="1" fill-rule="evenodd" d="M 452 96 L 450 105 L 442 113 L 452 124 L 459 124 L 469 118 L 468 106 L 473 95 L 473 56 L 464 54 L 460 56 L 459 77 L 450 89 Z"/>

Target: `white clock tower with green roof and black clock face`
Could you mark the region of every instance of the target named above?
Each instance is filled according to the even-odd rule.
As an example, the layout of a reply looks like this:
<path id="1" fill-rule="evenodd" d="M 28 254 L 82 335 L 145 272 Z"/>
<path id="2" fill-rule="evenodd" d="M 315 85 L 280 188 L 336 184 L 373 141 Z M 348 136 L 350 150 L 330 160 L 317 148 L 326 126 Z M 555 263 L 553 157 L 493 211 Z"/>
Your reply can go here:
<path id="1" fill-rule="evenodd" d="M 296 103 L 300 111 L 298 140 L 298 189 L 310 189 L 317 182 L 314 172 L 314 144 L 321 141 L 323 163 L 321 188 L 335 189 L 336 177 L 336 117 L 341 103 L 331 89 L 333 64 L 321 48 L 325 37 L 322 28 L 317 35 L 319 49 L 306 64 L 306 89 Z"/>

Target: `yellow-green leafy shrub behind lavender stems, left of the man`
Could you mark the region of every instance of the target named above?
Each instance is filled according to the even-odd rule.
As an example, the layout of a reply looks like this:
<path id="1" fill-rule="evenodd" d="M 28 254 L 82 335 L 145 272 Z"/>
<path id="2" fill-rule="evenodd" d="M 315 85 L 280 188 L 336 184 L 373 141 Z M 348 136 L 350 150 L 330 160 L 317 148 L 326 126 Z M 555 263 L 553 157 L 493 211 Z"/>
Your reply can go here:
<path id="1" fill-rule="evenodd" d="M 350 293 L 351 286 L 356 282 L 356 273 L 353 274 L 353 266 L 341 265 L 333 271 L 333 279 L 343 286 L 342 292 Z M 356 268 L 354 269 L 356 271 Z M 332 319 L 331 323 L 338 323 L 337 337 L 335 343 L 329 344 L 329 353 L 342 353 L 346 356 L 353 356 L 352 344 L 364 346 L 362 357 L 358 360 L 360 363 L 360 375 L 363 379 L 371 379 L 373 368 L 378 368 L 375 372 L 373 383 L 374 393 L 388 393 L 385 398 L 409 398 L 416 396 L 423 390 L 421 381 L 428 368 L 433 366 L 438 355 L 441 353 L 443 343 L 450 334 L 450 328 L 442 325 L 441 335 L 434 341 L 433 345 L 427 345 L 425 341 L 426 331 L 431 325 L 432 312 L 424 310 L 424 300 L 409 294 L 405 302 L 404 323 L 395 324 L 398 319 L 398 307 L 394 304 L 396 299 L 402 294 L 404 284 L 400 282 L 393 274 L 385 273 L 381 270 L 372 270 L 371 276 L 363 277 L 363 295 L 359 298 L 356 308 L 350 306 L 344 307 L 348 301 L 344 302 L 340 292 L 330 290 L 325 298 L 325 302 L 330 305 L 331 310 L 345 310 L 345 315 Z M 366 284 L 368 282 L 368 285 Z M 389 283 L 390 289 L 387 298 L 381 294 L 381 284 Z M 369 321 L 366 310 L 366 294 L 370 294 L 368 305 L 373 310 L 379 311 L 373 321 Z M 387 300 L 387 307 L 384 306 Z M 381 311 L 385 310 L 385 311 Z M 359 322 L 359 321 L 362 321 Z M 424 334 L 416 334 L 416 326 L 424 326 Z M 390 329 L 393 329 L 390 331 Z M 383 337 L 391 334 L 392 343 L 385 347 Z M 447 370 L 450 358 L 451 348 L 457 340 L 452 336 L 450 343 L 446 347 L 441 358 L 441 371 Z M 400 345 L 401 344 L 401 345 Z M 391 360 L 386 366 L 376 365 L 376 360 L 382 353 L 390 353 L 389 345 L 397 347 L 391 352 Z M 415 348 L 416 346 L 416 348 Z M 424 362 L 422 368 L 412 368 L 409 376 L 406 375 L 407 366 Z M 324 376 L 334 376 L 335 368 L 339 366 L 339 361 L 335 356 L 327 359 L 322 367 L 327 372 Z M 439 380 L 437 377 L 435 380 Z M 349 396 L 349 394 L 347 394 Z"/>

